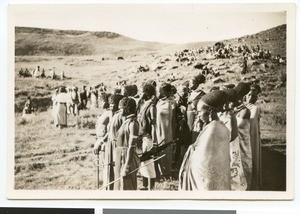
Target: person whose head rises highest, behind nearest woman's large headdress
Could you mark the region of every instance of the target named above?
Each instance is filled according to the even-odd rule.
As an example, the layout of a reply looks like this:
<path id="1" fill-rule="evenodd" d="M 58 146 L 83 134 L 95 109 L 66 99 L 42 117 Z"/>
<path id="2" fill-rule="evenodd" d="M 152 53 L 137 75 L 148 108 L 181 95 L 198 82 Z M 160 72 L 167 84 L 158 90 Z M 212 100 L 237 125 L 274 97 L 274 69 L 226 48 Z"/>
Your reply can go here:
<path id="1" fill-rule="evenodd" d="M 188 96 L 188 106 L 187 106 L 186 113 L 187 113 L 187 123 L 189 126 L 189 131 L 192 139 L 192 142 L 190 142 L 190 144 L 196 140 L 202 126 L 201 121 L 195 122 L 195 116 L 196 116 L 195 113 L 196 113 L 196 107 L 198 101 L 205 94 L 204 91 L 197 90 L 197 88 L 201 83 L 204 82 L 205 82 L 205 76 L 202 74 L 198 74 L 197 76 L 195 76 L 193 79 L 189 81 L 190 92 Z"/>

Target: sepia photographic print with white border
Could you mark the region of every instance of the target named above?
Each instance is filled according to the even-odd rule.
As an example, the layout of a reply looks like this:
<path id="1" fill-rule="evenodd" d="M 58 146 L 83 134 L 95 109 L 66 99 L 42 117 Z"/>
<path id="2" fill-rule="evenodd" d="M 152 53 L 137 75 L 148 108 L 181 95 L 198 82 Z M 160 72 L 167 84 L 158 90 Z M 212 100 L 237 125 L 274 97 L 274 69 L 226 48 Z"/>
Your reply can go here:
<path id="1" fill-rule="evenodd" d="M 293 199 L 293 4 L 8 12 L 9 199 Z"/>

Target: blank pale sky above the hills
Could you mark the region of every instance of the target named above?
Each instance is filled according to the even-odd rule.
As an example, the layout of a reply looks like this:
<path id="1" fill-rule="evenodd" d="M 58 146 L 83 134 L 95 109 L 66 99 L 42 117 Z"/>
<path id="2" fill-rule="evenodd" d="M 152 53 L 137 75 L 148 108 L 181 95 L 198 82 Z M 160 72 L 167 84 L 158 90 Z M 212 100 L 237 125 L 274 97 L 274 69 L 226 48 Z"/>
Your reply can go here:
<path id="1" fill-rule="evenodd" d="M 187 43 L 240 37 L 285 24 L 285 12 L 271 8 L 200 4 L 26 5 L 15 7 L 13 17 L 15 26 L 112 31 L 144 41 Z"/>

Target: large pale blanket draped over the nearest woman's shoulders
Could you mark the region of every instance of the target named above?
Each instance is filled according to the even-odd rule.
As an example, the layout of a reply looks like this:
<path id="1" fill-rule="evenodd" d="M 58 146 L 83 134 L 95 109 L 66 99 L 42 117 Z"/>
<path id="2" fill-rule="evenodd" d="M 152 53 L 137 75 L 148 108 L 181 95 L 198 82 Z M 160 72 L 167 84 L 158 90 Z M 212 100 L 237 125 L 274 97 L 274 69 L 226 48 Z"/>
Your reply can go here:
<path id="1" fill-rule="evenodd" d="M 185 154 L 180 190 L 230 190 L 230 132 L 220 121 L 204 127 Z"/>

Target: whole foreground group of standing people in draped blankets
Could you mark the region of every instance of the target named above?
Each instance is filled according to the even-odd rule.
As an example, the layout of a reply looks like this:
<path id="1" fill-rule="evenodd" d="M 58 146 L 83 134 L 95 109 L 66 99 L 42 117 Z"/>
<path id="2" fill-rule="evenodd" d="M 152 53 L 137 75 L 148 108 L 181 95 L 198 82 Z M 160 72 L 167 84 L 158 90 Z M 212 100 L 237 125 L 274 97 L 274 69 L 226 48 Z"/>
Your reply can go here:
<path id="1" fill-rule="evenodd" d="M 179 188 L 183 190 L 259 188 L 259 111 L 254 105 L 257 86 L 240 83 L 234 89 L 205 94 L 197 90 L 204 81 L 203 75 L 197 75 L 178 92 L 164 83 L 158 96 L 155 84 L 148 83 L 138 101 L 126 96 L 120 102 L 122 95 L 110 96 L 107 102 L 111 108 L 97 122 L 95 144 L 96 153 L 105 148 L 100 152 L 104 187 L 136 189 L 136 171 L 131 172 L 140 166 L 144 188 L 148 189 L 153 189 L 157 173 L 173 176 L 172 169 L 176 168 L 180 168 Z M 243 102 L 245 96 L 248 108 Z M 160 167 L 155 167 L 153 159 L 139 165 L 136 147 L 143 154 L 175 138 L 179 138 L 178 143 L 163 150 Z"/>

